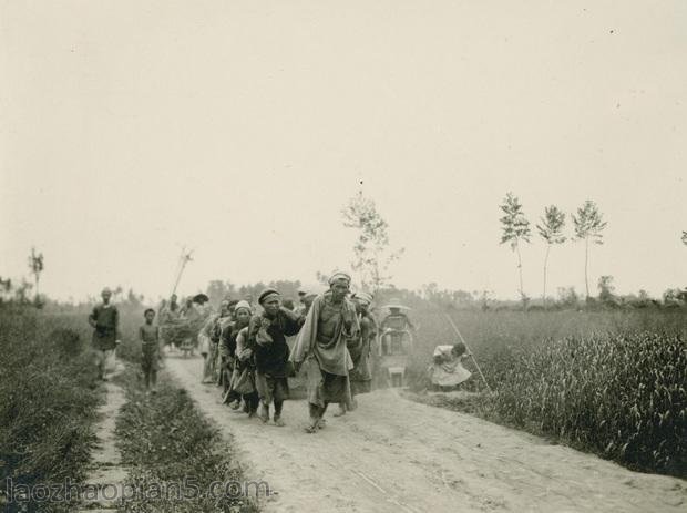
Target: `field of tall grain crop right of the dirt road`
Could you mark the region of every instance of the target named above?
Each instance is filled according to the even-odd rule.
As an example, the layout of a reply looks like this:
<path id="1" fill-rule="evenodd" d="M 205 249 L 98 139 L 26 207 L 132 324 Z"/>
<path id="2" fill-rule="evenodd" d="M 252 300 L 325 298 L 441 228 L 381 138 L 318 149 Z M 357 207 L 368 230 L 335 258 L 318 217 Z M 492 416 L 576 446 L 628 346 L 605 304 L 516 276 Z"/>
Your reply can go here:
<path id="1" fill-rule="evenodd" d="M 686 475 L 684 311 L 450 315 L 494 390 L 470 411 L 629 468 Z M 419 390 L 434 346 L 458 337 L 443 311 L 411 316 L 420 325 L 410 372 Z M 476 372 L 465 384 L 483 388 Z"/>

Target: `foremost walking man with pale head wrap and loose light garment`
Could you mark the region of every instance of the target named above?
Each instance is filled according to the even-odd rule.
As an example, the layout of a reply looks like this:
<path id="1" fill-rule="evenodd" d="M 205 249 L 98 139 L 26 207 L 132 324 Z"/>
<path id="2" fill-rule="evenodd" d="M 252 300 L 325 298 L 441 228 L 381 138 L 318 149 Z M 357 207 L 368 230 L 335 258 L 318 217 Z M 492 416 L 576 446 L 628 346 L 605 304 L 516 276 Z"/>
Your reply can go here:
<path id="1" fill-rule="evenodd" d="M 360 324 L 355 305 L 346 298 L 351 278 L 336 273 L 329 290 L 318 296 L 308 311 L 290 356 L 296 371 L 305 366 L 310 424 L 307 432 L 321 428 L 330 402 L 351 409 L 349 371 L 353 368 L 347 340 L 357 338 Z"/>

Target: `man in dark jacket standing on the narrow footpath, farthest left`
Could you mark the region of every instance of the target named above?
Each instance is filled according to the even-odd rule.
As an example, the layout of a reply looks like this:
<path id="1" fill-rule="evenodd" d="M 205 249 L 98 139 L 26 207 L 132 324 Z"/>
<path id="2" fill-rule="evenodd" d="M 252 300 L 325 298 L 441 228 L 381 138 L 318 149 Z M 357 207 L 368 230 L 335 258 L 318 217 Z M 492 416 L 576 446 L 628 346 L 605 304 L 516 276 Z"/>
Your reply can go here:
<path id="1" fill-rule="evenodd" d="M 103 302 L 96 305 L 89 316 L 89 324 L 94 328 L 91 340 L 98 376 L 107 381 L 107 371 L 114 370 L 115 349 L 120 343 L 120 312 L 110 302 L 112 290 L 105 287 L 101 293 Z"/>

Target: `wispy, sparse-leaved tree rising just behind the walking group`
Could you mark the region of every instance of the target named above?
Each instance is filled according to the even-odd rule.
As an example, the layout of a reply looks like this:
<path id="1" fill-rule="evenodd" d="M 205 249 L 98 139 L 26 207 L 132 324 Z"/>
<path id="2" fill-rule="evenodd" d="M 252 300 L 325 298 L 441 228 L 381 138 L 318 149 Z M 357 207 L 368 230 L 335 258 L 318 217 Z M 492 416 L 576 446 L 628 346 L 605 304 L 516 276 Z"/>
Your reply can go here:
<path id="1" fill-rule="evenodd" d="M 352 268 L 359 273 L 363 288 L 377 293 L 388 285 L 389 266 L 403 254 L 403 248 L 392 250 L 389 243 L 389 225 L 381 217 L 375 202 L 362 193 L 352 197 L 341 211 L 344 226 L 358 230 L 353 246 Z"/>

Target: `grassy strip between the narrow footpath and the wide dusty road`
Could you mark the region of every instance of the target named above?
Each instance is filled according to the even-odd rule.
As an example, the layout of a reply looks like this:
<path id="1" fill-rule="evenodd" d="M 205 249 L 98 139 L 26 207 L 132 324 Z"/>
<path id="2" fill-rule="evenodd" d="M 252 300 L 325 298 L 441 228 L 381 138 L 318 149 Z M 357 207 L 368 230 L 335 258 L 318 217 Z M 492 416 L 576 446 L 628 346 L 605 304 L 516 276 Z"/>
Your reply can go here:
<path id="1" fill-rule="evenodd" d="M 232 448 L 184 389 L 163 371 L 157 393 L 146 394 L 133 366 L 116 381 L 126 394 L 116 422 L 122 464 L 130 472 L 124 485 L 134 491 L 125 493 L 126 511 L 259 511 L 247 496 L 255 489 L 246 484 Z"/>

